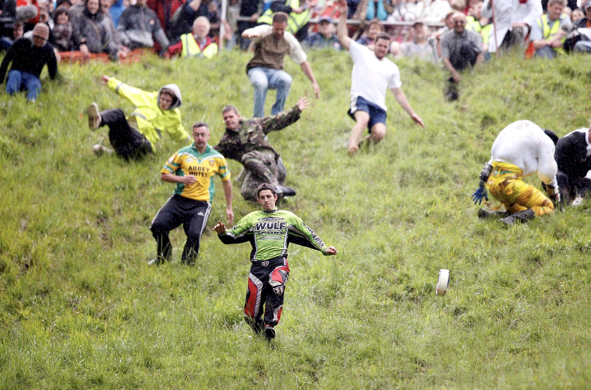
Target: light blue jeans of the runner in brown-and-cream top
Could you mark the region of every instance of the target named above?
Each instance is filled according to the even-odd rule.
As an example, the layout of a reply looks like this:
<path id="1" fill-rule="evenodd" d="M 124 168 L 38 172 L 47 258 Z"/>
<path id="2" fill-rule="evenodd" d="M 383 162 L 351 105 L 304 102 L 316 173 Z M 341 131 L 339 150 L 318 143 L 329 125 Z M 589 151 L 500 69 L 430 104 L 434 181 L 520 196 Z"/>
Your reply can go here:
<path id="1" fill-rule="evenodd" d="M 291 89 L 291 76 L 282 70 L 271 68 L 251 68 L 248 71 L 248 78 L 255 87 L 255 108 L 254 117 L 262 118 L 265 116 L 265 99 L 268 89 L 277 90 L 275 104 L 271 107 L 271 115 L 283 111 L 285 100 Z"/>

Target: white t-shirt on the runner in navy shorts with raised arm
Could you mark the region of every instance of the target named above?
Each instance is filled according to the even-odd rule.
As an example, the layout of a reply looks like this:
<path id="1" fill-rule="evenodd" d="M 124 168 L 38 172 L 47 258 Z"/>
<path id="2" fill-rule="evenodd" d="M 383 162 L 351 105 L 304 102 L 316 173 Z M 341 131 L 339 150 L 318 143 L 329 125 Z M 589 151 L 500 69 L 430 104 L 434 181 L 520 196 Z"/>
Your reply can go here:
<path id="1" fill-rule="evenodd" d="M 361 96 L 387 111 L 386 91 L 402 86 L 398 67 L 388 58 L 378 60 L 373 51 L 355 41 L 351 41 L 349 55 L 353 59 L 351 97 Z"/>

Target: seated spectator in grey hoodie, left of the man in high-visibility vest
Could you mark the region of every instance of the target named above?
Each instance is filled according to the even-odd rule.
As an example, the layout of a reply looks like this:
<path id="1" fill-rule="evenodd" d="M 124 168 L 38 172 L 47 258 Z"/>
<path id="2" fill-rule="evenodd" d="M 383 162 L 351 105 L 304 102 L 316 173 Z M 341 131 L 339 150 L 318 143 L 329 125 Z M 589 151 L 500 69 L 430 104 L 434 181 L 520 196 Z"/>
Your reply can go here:
<path id="1" fill-rule="evenodd" d="M 164 33 L 156 12 L 146 6 L 147 0 L 137 0 L 128 6 L 121 18 L 117 31 L 121 43 L 134 50 L 141 47 L 154 47 L 154 40 L 160 44 L 160 53 L 168 48 L 168 38 Z"/>

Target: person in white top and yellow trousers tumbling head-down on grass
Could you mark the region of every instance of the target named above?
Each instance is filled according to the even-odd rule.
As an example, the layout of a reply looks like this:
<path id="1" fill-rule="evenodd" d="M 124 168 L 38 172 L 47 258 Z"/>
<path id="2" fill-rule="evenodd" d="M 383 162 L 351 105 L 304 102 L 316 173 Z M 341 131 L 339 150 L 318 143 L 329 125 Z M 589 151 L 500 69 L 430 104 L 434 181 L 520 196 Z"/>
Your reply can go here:
<path id="1" fill-rule="evenodd" d="M 558 171 L 554 160 L 554 140 L 550 130 L 529 120 L 518 120 L 505 127 L 492 144 L 491 160 L 480 172 L 480 185 L 472 194 L 474 203 L 482 198 L 488 201 L 486 188 L 496 200 L 505 205 L 506 211 L 478 211 L 479 218 L 505 217 L 499 219 L 507 225 L 525 222 L 535 215 L 554 211 L 558 202 Z M 521 179 L 538 174 L 550 199 L 532 185 Z"/>

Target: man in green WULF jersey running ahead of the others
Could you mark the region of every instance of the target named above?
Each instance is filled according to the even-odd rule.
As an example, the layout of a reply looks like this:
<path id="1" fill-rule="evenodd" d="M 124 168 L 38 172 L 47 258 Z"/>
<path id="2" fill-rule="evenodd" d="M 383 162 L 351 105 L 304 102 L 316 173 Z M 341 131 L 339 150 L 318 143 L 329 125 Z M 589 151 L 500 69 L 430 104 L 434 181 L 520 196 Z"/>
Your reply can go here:
<path id="1" fill-rule="evenodd" d="M 274 326 L 281 318 L 285 282 L 290 274 L 287 263 L 290 242 L 321 251 L 325 256 L 336 255 L 337 250 L 324 245 L 293 212 L 278 210 L 275 207 L 277 193 L 272 185 L 262 183 L 256 195 L 262 211 L 251 212 L 230 230 L 217 221 L 213 230 L 224 244 L 251 242 L 252 266 L 244 306 L 245 319 L 256 333 L 264 332 L 267 339 L 272 339 L 275 337 Z"/>

